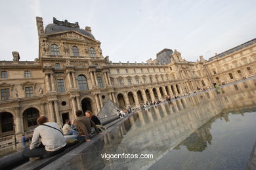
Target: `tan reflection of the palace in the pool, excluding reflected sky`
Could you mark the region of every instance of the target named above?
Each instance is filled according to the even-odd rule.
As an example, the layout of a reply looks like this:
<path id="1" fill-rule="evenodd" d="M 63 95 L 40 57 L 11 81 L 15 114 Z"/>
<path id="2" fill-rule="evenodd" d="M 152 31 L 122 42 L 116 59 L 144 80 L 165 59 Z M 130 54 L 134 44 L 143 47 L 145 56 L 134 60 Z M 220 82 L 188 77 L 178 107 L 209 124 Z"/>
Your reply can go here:
<path id="1" fill-rule="evenodd" d="M 150 167 L 173 148 L 184 145 L 189 151 L 202 152 L 213 139 L 211 123 L 228 122 L 228 114 L 254 110 L 255 80 L 198 95 L 184 97 L 142 110 L 106 133 L 104 139 L 70 161 L 83 169 L 140 169 Z M 102 159 L 100 154 L 153 154 L 154 159 Z M 95 167 L 95 165 L 97 165 Z"/>

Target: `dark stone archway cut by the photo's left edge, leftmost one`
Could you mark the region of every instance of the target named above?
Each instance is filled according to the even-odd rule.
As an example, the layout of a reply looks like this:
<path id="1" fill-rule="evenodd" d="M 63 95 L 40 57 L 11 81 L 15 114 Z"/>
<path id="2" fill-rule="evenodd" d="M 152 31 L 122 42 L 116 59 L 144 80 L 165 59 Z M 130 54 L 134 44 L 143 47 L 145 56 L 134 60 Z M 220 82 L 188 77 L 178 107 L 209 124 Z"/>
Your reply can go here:
<path id="1" fill-rule="evenodd" d="M 11 112 L 1 112 L 0 123 L 0 135 L 12 135 L 14 133 L 13 116 Z"/>

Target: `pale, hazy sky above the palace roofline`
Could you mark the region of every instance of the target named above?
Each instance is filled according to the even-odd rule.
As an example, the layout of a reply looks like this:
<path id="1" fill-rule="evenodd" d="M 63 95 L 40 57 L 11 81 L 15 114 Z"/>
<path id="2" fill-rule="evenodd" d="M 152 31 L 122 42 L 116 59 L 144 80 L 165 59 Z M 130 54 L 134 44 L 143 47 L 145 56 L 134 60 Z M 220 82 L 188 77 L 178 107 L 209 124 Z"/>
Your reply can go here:
<path id="1" fill-rule="evenodd" d="M 163 48 L 187 61 L 208 59 L 256 38 L 256 1 L 83 0 L 0 2 L 0 60 L 38 58 L 35 17 L 90 26 L 103 56 L 113 62 L 146 62 Z"/>

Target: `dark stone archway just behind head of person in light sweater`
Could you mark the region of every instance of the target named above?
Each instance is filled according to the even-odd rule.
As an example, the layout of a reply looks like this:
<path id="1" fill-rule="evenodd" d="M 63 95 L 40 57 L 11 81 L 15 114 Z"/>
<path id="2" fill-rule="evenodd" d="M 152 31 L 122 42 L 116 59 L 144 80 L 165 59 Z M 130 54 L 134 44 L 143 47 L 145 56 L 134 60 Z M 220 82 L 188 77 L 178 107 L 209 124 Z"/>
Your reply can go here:
<path id="1" fill-rule="evenodd" d="M 28 131 L 28 129 L 33 129 L 37 126 L 37 118 L 39 117 L 39 110 L 34 107 L 30 107 L 22 113 L 23 115 L 23 125 L 24 131 Z"/>

